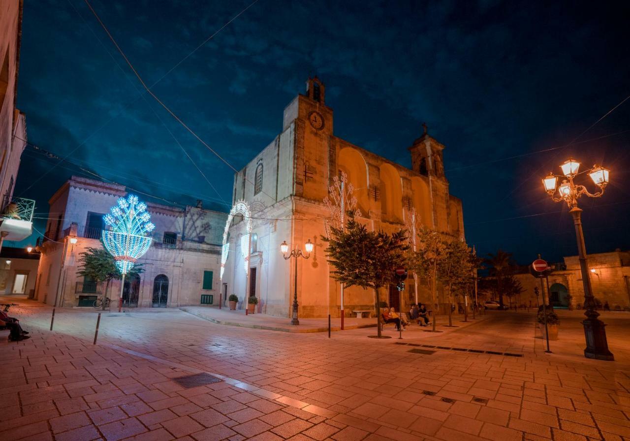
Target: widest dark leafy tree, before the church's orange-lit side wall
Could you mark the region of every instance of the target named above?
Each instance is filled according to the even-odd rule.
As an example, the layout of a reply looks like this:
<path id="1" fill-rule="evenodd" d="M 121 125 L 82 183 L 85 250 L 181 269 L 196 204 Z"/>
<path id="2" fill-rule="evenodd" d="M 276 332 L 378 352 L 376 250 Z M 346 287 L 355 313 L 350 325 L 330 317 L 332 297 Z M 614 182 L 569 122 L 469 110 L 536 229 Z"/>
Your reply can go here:
<path id="1" fill-rule="evenodd" d="M 387 234 L 384 231 L 367 231 L 364 225 L 357 222 L 353 212 L 348 212 L 345 229 L 331 225 L 329 236 L 322 236 L 322 240 L 328 243 L 324 251 L 328 262 L 335 268 L 331 272 L 333 278 L 346 287 L 374 289 L 374 309 L 380 338 L 379 289 L 394 282 L 396 266 L 405 263 L 408 250 L 405 232 L 400 230 Z"/>

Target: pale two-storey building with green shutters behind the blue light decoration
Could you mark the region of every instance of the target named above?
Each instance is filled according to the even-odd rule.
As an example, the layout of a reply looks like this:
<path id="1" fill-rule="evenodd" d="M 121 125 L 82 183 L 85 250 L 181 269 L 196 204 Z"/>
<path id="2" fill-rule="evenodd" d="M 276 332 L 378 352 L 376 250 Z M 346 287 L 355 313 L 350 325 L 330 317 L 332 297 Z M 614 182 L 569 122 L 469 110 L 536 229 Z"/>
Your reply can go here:
<path id="1" fill-rule="evenodd" d="M 124 186 L 72 176 L 50 198 L 35 298 L 61 307 L 91 306 L 105 286 L 77 275 L 80 253 L 102 248 L 103 215 L 125 197 Z M 129 307 L 178 307 L 219 303 L 221 235 L 227 214 L 197 207 L 147 203 L 156 229 L 140 258 L 144 272 L 125 280 Z M 120 281 L 106 293 L 117 301 Z"/>

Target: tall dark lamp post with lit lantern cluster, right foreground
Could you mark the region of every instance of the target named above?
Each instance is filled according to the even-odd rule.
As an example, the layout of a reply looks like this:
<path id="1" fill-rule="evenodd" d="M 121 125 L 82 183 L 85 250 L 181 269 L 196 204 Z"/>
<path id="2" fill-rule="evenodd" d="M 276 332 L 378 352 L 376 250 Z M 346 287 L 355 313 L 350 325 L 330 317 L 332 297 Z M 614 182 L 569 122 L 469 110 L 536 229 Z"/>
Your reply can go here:
<path id="1" fill-rule="evenodd" d="M 590 170 L 578 173 L 580 163 L 574 159 L 568 159 L 560 168 L 562 169 L 563 175 L 554 175 L 549 172 L 549 176 L 542 179 L 542 185 L 554 202 L 566 202 L 566 205 L 569 207 L 569 212 L 573 216 L 575 235 L 578 241 L 578 256 L 580 258 L 582 284 L 584 285 L 584 307 L 586 309 L 584 315 L 587 316 L 582 322 L 587 341 L 584 356 L 587 358 L 596 358 L 597 360 L 612 361 L 615 358 L 608 349 L 606 325 L 597 318 L 599 312 L 595 311 L 595 297 L 593 297 L 590 272 L 588 271 L 587 264 L 587 250 L 584 244 L 584 233 L 582 232 L 582 210 L 578 207 L 578 198 L 581 196 L 586 195 L 588 197 L 597 198 L 604 194 L 610 172 L 601 166 L 593 166 Z M 599 192 L 590 193 L 585 186 L 576 185 L 574 183 L 573 180 L 583 173 L 588 173 L 593 183 L 599 187 Z M 560 185 L 558 185 L 558 178 L 562 178 Z M 556 195 L 556 193 L 558 193 L 558 195 Z"/>

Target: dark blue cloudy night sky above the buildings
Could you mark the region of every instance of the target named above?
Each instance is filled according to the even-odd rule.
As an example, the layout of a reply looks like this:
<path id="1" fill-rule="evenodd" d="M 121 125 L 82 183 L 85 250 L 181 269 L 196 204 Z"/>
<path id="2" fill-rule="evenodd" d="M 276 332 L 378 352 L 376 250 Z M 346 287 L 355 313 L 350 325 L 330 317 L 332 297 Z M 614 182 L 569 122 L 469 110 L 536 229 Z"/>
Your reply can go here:
<path id="1" fill-rule="evenodd" d="M 171 71 L 251 0 L 91 4 L 154 93 L 236 169 L 318 75 L 335 135 L 392 161 L 410 166 L 427 122 L 480 254 L 576 255 L 571 216 L 540 181 L 568 156 L 611 170 L 603 198 L 580 200 L 588 251 L 630 248 L 630 100 L 591 127 L 630 95 L 621 6 L 259 0 Z M 22 156 L 15 195 L 37 200 L 40 231 L 72 174 L 229 210 L 232 170 L 141 93 L 83 1 L 25 2 L 18 82 L 28 140 L 69 155 Z"/>

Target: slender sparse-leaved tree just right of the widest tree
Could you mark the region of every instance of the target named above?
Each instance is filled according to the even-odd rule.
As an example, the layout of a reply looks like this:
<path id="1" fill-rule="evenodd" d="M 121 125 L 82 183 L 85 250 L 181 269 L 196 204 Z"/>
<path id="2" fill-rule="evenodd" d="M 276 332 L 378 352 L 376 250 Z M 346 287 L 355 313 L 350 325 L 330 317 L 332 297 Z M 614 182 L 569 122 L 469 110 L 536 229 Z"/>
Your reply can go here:
<path id="1" fill-rule="evenodd" d="M 445 257 L 442 236 L 424 225 L 416 225 L 416 249 L 408 250 L 408 265 L 423 280 L 433 301 L 433 332 L 437 314 L 437 265 Z"/>

